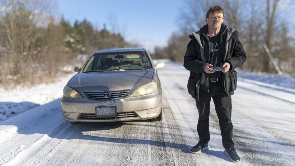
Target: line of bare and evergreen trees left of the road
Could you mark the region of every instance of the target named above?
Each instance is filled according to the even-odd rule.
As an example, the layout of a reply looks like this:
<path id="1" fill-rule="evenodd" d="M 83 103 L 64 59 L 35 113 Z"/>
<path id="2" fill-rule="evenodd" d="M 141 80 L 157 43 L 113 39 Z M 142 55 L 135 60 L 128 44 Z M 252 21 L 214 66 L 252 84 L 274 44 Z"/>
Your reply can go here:
<path id="1" fill-rule="evenodd" d="M 120 33 L 89 21 L 56 21 L 50 0 L 0 1 L 0 85 L 51 82 L 78 54 L 130 47 Z M 81 62 L 80 62 L 81 63 Z"/>

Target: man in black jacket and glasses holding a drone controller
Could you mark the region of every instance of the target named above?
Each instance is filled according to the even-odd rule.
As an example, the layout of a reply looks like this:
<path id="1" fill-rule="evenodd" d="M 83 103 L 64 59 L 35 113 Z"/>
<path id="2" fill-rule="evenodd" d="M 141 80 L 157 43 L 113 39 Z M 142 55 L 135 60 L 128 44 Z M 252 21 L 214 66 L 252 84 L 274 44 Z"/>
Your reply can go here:
<path id="1" fill-rule="evenodd" d="M 209 113 L 212 97 L 219 119 L 224 154 L 231 161 L 240 162 L 232 141 L 231 95 L 237 85 L 237 72 L 234 69 L 244 64 L 246 53 L 238 38 L 239 32 L 222 23 L 224 10 L 220 6 L 210 7 L 205 21 L 207 24 L 204 27 L 189 36 L 191 41 L 187 46 L 183 64 L 191 71 L 188 91 L 196 99 L 199 111 L 199 142 L 191 149 L 191 153 L 209 150 Z"/>

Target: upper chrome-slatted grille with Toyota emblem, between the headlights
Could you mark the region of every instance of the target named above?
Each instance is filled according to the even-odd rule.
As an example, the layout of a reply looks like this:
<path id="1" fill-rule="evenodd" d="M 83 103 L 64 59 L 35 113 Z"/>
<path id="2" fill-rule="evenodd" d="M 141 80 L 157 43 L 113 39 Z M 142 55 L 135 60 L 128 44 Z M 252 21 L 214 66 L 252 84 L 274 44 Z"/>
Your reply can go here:
<path id="1" fill-rule="evenodd" d="M 109 96 L 103 95 L 104 92 L 109 92 Z M 119 99 L 125 97 L 130 92 L 128 90 L 99 90 L 99 91 L 89 91 L 84 92 L 84 94 L 90 99 L 96 100 L 109 100 L 109 99 Z"/>

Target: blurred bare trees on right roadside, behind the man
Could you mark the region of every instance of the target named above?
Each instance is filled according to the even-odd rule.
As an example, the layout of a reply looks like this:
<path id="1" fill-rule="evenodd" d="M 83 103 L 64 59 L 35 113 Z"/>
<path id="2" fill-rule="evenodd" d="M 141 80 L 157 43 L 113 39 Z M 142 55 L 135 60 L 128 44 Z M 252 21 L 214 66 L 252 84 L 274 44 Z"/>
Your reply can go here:
<path id="1" fill-rule="evenodd" d="M 288 19 L 290 15 L 279 9 L 281 1 L 186 0 L 177 19 L 181 30 L 171 35 L 167 47 L 156 47 L 152 57 L 183 62 L 190 41 L 188 36 L 206 24 L 206 13 L 211 6 L 221 6 L 224 9 L 224 23 L 239 31 L 247 54 L 247 61 L 241 69 L 276 73 L 263 47 L 266 44 L 281 71 L 295 75 L 295 37 L 289 35 L 295 33 L 294 22 Z M 293 32 L 289 33 L 292 29 Z"/>

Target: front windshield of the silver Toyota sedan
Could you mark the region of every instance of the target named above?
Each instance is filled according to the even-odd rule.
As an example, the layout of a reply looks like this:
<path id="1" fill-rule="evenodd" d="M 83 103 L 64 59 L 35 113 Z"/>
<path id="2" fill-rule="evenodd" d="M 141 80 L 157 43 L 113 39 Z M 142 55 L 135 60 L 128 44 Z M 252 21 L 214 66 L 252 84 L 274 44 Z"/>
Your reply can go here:
<path id="1" fill-rule="evenodd" d="M 148 55 L 140 53 L 107 53 L 94 54 L 83 72 L 112 71 L 112 70 L 142 70 L 151 69 Z"/>

